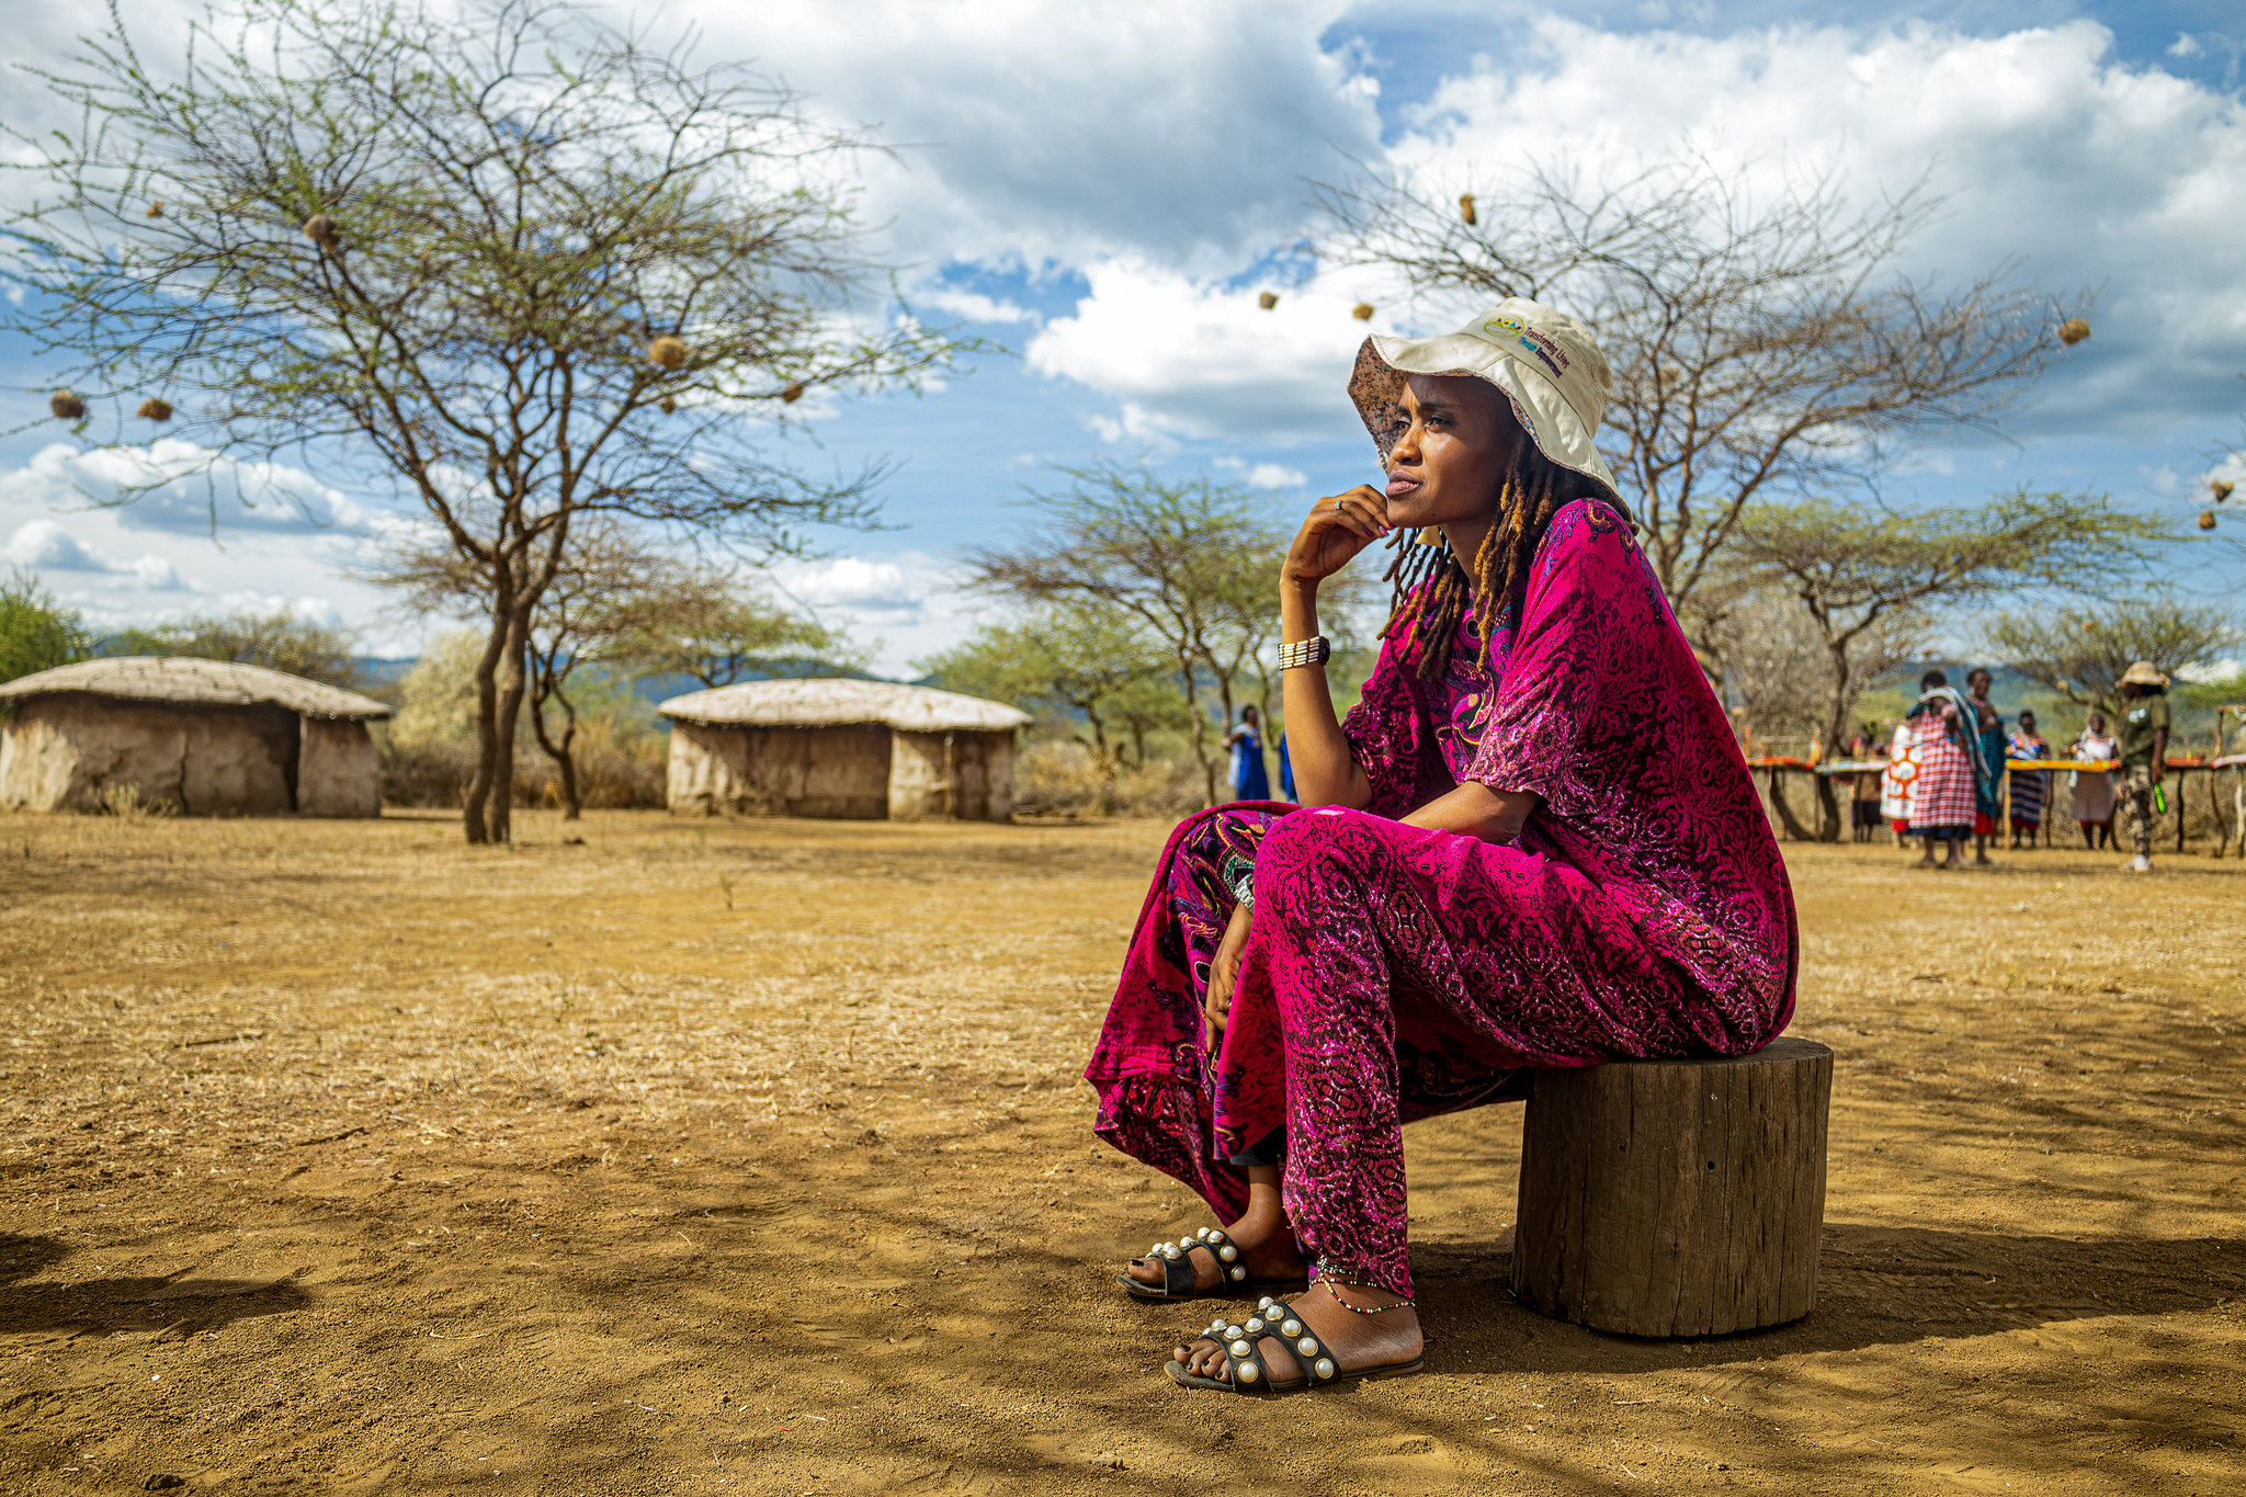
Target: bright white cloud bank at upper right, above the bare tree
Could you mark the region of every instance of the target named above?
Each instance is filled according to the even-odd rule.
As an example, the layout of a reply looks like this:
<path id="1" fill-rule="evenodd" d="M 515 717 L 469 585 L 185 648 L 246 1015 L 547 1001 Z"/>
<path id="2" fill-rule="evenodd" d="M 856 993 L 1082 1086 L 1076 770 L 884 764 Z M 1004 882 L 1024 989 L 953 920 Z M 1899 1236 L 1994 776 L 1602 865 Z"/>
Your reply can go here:
<path id="1" fill-rule="evenodd" d="M 1916 272 L 1956 281 L 2017 256 L 2046 290 L 2100 292 L 2096 339 L 2015 429 L 2147 435 L 2237 406 L 2246 112 L 2116 63 L 2111 40 L 2087 20 L 1617 36 L 1545 16 L 1417 105 L 1393 159 L 1485 193 L 1523 162 L 1610 180 L 1684 148 L 1750 193 L 1830 168 L 1869 204 L 1927 175 L 1947 206 Z"/>

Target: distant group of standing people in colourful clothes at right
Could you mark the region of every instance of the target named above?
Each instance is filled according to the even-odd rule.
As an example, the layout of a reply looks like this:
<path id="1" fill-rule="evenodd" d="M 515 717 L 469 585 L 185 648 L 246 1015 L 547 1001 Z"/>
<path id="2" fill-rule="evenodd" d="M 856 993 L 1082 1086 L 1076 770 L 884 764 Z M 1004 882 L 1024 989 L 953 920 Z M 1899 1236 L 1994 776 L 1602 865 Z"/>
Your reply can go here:
<path id="1" fill-rule="evenodd" d="M 2012 848 L 2035 846 L 2051 806 L 2051 770 L 2006 765 L 2048 761 L 2051 743 L 2037 732 L 2033 711 L 2021 711 L 2019 725 L 2006 732 L 2003 716 L 1990 705 L 1990 685 L 1985 669 L 1965 676 L 1965 691 L 1954 689 L 1943 671 L 1920 676 L 1918 702 L 1896 725 L 1884 772 L 1857 777 L 1857 842 L 1869 842 L 1884 819 L 1898 842 L 1920 839 L 1920 869 L 1936 866 L 1936 846 L 1945 848 L 1938 866 L 1961 866 L 1967 837 L 1976 866 L 1988 864 L 1988 844 L 2003 830 L 2010 830 Z M 2066 747 L 2066 759 L 2118 763 L 2116 772 L 2073 772 L 2073 815 L 2084 846 L 2096 851 L 2113 846 L 2113 812 L 2122 810 L 2134 844 L 2129 869 L 2149 873 L 2152 824 L 2156 810 L 2165 810 L 2158 786 L 2167 763 L 2167 678 L 2140 660 L 2120 678 L 2120 727 L 2109 732 L 2107 716 L 2091 711 Z M 1864 725 L 1855 752 L 1878 752 L 1873 725 Z"/>

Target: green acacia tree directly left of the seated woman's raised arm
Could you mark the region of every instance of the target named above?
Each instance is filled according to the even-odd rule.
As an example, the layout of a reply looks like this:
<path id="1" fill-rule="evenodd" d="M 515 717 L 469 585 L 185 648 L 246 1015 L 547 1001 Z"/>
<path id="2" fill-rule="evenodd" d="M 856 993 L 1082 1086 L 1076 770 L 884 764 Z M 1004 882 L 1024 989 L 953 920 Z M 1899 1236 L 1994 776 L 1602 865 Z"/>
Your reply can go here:
<path id="1" fill-rule="evenodd" d="M 1011 548 L 966 552 L 968 586 L 1024 604 L 1098 604 L 1130 615 L 1170 658 L 1208 803 L 1217 754 L 1208 707 L 1233 720 L 1244 678 L 1278 637 L 1278 566 L 1291 525 L 1247 489 L 1166 480 L 1143 467 L 1062 469 L 1065 489 L 1031 500 L 1031 532 Z M 1332 579 L 1334 615 L 1354 572 Z M 1211 702 L 1208 698 L 1215 696 Z"/>

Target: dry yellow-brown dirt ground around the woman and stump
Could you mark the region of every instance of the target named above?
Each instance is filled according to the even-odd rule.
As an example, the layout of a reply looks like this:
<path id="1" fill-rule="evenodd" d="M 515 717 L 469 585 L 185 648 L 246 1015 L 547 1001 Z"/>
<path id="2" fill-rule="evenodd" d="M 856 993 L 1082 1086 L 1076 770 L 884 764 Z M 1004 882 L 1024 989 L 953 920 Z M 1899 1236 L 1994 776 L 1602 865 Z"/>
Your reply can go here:
<path id="1" fill-rule="evenodd" d="M 1206 1221 L 1078 1082 L 1163 828 L 523 830 L 0 817 L 0 1490 L 2246 1488 L 2239 862 L 1788 848 L 1817 1311 L 1518 1308 L 1489 1109 L 1428 1371 L 1260 1403 L 1112 1286 Z"/>

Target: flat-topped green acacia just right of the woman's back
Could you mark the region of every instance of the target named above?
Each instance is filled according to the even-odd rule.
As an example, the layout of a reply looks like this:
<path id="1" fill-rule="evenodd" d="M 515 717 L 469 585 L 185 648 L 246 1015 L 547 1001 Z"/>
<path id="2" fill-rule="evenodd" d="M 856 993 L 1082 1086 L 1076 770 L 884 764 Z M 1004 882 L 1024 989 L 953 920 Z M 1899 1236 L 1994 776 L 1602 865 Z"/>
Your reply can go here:
<path id="1" fill-rule="evenodd" d="M 1842 743 L 1864 685 L 1923 642 L 1934 606 L 2033 588 L 2098 593 L 2147 563 L 2170 527 L 2102 494 L 1999 494 L 1970 509 L 1893 514 L 1828 498 L 1761 500 L 1741 516 L 1727 566 L 1747 586 L 1792 593 L 1824 644 L 1826 747 Z M 1714 590 L 1711 590 L 1714 593 Z M 1702 624 L 1720 635 L 1720 619 Z M 1839 837 L 1833 781 L 1817 779 L 1817 835 Z"/>

